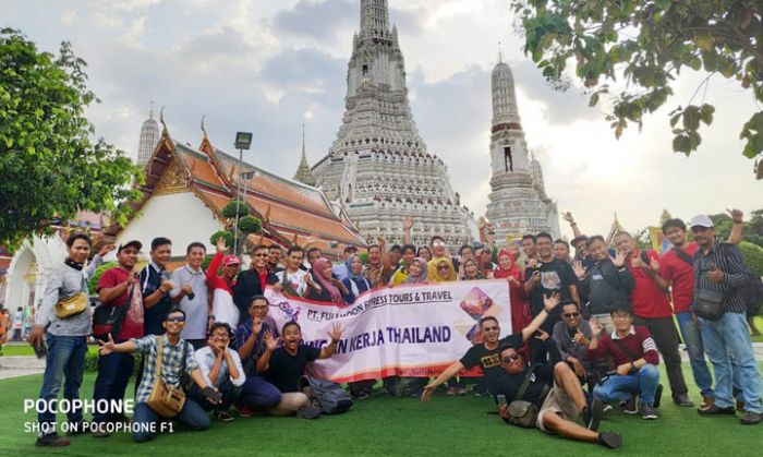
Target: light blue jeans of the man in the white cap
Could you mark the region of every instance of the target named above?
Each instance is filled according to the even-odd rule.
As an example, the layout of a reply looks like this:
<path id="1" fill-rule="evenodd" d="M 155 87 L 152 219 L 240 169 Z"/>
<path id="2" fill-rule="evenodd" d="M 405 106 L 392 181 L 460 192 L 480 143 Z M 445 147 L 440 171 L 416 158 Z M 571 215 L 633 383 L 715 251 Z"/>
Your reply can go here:
<path id="1" fill-rule="evenodd" d="M 734 406 L 734 385 L 741 389 L 744 410 L 763 413 L 761 374 L 743 313 L 726 313 L 718 321 L 700 317 L 702 339 L 715 371 L 715 405 Z"/>

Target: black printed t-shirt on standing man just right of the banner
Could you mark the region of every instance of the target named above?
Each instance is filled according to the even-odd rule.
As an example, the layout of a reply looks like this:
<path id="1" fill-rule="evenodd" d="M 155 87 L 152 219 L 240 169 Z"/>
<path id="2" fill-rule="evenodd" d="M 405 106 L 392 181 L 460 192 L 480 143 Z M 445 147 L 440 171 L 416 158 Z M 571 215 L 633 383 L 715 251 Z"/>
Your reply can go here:
<path id="1" fill-rule="evenodd" d="M 558 258 L 554 258 L 552 262 L 547 263 L 538 263 L 537 268 L 528 268 L 525 272 L 525 281 L 531 280 L 533 273 L 536 270 L 541 272 L 541 281 L 533 289 L 531 297 L 533 317 L 541 314 L 541 311 L 543 311 L 544 294 L 558 292 L 561 300 L 569 300 L 572 298 L 570 294 L 570 286 L 578 284 L 578 277 L 574 275 L 572 267 L 567 262 L 562 262 Z M 561 308 L 562 306 L 556 306 L 548 317 L 546 317 L 546 322 L 541 326 L 544 332 L 548 334 L 554 332 L 554 325 L 561 321 Z"/>

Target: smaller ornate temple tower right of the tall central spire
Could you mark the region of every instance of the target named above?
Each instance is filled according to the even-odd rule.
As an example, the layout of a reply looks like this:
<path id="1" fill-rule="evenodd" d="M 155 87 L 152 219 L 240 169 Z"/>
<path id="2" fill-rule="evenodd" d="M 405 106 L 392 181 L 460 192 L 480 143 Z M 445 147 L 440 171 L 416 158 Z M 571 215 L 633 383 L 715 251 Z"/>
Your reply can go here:
<path id="1" fill-rule="evenodd" d="M 488 195 L 487 219 L 496 229 L 496 240 L 524 233 L 548 231 L 559 236 L 559 216 L 547 195 L 543 170 L 528 155 L 511 69 L 502 62 L 493 69 L 493 128 L 491 129 L 491 165 L 493 178 Z"/>

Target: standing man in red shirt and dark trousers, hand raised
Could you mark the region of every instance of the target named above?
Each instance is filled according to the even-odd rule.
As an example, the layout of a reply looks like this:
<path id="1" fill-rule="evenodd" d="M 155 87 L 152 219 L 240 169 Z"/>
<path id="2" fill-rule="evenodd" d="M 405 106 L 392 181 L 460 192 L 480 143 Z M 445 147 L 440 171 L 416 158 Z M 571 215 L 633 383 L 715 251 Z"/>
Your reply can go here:
<path id="1" fill-rule="evenodd" d="M 662 279 L 657 276 L 659 257 L 654 250 L 641 251 L 633 237 L 625 231 L 615 237 L 615 245 L 618 251 L 628 254 L 626 265 L 635 278 L 635 287 L 631 293 L 633 322 L 649 328 L 654 336 L 657 349 L 665 359 L 673 401 L 678 406 L 692 407 L 694 404 L 689 399 L 689 389 L 681 371 L 678 332 L 673 322 L 670 301 Z"/>

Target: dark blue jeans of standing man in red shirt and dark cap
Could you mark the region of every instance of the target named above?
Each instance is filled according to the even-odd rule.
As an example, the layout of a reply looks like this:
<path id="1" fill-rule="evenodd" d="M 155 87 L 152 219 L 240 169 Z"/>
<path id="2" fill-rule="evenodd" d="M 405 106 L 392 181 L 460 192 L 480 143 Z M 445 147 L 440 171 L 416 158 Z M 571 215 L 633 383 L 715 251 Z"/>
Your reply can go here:
<path id="1" fill-rule="evenodd" d="M 133 373 L 133 362 L 135 359 L 130 353 L 113 352 L 98 358 L 98 377 L 93 387 L 93 399 L 123 400 L 124 392 L 130 383 L 130 375 Z M 119 416 L 113 413 L 93 413 L 93 421 L 97 423 L 119 420 Z"/>

